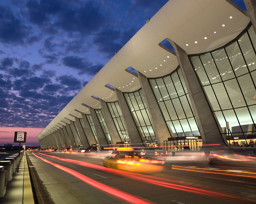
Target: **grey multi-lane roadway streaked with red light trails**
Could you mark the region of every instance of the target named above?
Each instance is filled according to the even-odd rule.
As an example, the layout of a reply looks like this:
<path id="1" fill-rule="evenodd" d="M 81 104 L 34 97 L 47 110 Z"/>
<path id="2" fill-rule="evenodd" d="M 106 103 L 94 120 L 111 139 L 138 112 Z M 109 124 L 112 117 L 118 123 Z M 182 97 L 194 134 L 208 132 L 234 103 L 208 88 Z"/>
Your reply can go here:
<path id="1" fill-rule="evenodd" d="M 27 155 L 55 204 L 256 203 L 256 170 L 251 167 L 209 167 L 207 159 L 168 157 L 164 172 L 134 174 L 106 169 L 103 156 L 48 151 Z"/>

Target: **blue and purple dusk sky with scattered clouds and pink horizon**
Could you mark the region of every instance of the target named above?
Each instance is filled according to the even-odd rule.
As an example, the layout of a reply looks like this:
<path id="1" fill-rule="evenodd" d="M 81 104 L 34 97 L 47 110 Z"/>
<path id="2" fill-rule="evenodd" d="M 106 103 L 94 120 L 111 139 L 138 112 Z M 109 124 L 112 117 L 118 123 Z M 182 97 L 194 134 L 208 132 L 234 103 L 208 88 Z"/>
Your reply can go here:
<path id="1" fill-rule="evenodd" d="M 26 146 L 168 0 L 1 0 L 0 145 Z M 243 0 L 233 0 L 245 9 Z"/>

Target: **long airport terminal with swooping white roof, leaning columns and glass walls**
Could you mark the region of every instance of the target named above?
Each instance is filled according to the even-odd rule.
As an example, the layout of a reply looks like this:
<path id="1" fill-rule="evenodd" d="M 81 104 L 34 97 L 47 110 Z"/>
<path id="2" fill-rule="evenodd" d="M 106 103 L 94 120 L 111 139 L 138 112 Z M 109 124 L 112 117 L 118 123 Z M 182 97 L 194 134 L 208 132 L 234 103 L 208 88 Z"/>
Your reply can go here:
<path id="1" fill-rule="evenodd" d="M 244 3 L 167 2 L 36 137 L 41 148 L 249 147 L 256 1 Z"/>

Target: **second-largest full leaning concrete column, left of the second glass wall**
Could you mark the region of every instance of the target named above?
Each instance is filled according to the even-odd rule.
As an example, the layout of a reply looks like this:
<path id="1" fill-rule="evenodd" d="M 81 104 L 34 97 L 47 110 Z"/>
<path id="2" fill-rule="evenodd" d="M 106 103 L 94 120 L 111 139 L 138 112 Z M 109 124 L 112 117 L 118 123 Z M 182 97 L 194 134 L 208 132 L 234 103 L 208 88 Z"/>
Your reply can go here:
<path id="1" fill-rule="evenodd" d="M 164 141 L 168 140 L 168 137 L 174 137 L 173 133 L 169 131 L 161 109 L 157 103 L 155 94 L 148 82 L 147 77 L 137 71 L 140 80 L 140 85 L 148 106 L 148 113 L 151 119 L 152 126 L 154 128 L 157 145 L 164 146 Z"/>

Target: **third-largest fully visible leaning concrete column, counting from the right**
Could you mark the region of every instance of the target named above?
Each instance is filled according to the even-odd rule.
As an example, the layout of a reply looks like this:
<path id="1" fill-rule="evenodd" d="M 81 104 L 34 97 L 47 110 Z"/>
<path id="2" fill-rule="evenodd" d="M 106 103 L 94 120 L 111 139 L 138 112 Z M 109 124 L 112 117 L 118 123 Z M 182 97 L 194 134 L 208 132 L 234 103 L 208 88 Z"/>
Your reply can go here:
<path id="1" fill-rule="evenodd" d="M 126 127 L 127 134 L 129 136 L 129 140 L 131 142 L 131 146 L 136 147 L 143 144 L 140 132 L 136 126 L 135 121 L 133 120 L 132 113 L 129 109 L 128 104 L 124 98 L 124 94 L 122 91 L 115 88 L 117 100 L 123 115 L 124 124 Z"/>

